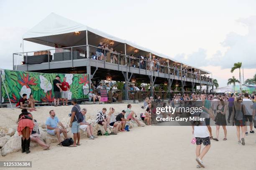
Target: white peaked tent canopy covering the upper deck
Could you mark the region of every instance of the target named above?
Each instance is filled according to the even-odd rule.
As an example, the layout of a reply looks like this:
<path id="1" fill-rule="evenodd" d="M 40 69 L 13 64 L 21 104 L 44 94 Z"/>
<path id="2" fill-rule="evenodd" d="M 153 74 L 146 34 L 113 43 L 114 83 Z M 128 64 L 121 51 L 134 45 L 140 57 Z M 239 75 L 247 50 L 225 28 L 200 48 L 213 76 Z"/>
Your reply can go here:
<path id="1" fill-rule="evenodd" d="M 113 35 L 109 35 L 105 32 L 102 32 L 100 30 L 90 28 L 87 25 L 77 23 L 73 20 L 69 20 L 60 15 L 56 15 L 55 13 L 51 13 L 44 20 L 38 23 L 35 27 L 33 27 L 28 32 L 26 32 L 23 35 L 23 40 L 27 40 L 27 41 L 31 41 L 38 44 L 51 46 L 51 47 L 60 47 L 58 45 L 61 45 L 62 47 L 86 45 L 86 30 L 89 32 L 92 32 L 95 35 L 104 37 L 108 40 L 114 40 L 116 42 L 120 42 L 123 44 L 126 43 L 127 45 L 130 45 L 139 50 L 142 50 L 145 52 L 151 52 L 151 54 L 157 55 L 159 57 L 163 57 L 163 58 L 172 60 L 174 62 L 184 64 L 184 62 L 174 60 L 167 55 L 155 52 L 145 47 L 141 47 L 140 45 L 134 44 L 133 42 L 120 39 Z M 73 32 L 75 31 L 80 31 L 80 35 L 82 36 L 74 36 Z M 89 41 L 89 44 L 90 44 L 90 41 Z M 184 64 L 184 65 L 187 65 L 187 64 Z M 193 67 L 193 66 L 189 66 L 189 67 Z M 196 68 L 196 67 L 193 67 L 193 68 Z M 210 73 L 209 71 L 202 70 L 200 68 L 196 68 L 196 69 L 201 70 L 203 72 L 202 74 Z"/>

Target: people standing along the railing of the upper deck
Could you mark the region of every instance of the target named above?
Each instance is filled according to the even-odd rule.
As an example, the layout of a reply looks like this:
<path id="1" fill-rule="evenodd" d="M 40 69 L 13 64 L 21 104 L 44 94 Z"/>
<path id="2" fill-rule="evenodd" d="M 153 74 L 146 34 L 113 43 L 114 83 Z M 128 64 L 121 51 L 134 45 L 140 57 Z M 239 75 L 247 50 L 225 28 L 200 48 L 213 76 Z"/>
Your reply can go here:
<path id="1" fill-rule="evenodd" d="M 200 80 L 200 72 L 195 68 L 189 69 L 187 66 L 182 68 L 180 63 L 168 63 L 169 60 L 166 58 L 157 57 L 155 55 L 150 56 L 139 54 L 135 57 L 131 54 L 129 57 L 123 54 L 122 51 L 117 52 L 113 48 L 109 48 L 109 44 L 103 43 L 102 41 L 97 45 L 95 52 L 91 53 L 91 58 L 95 60 L 102 60 L 111 63 L 119 63 L 121 65 L 129 65 L 130 67 L 137 67 L 141 69 L 147 69 L 156 72 L 165 72 L 171 75 L 177 75 L 182 77 L 191 77 Z M 169 70 L 166 69 L 169 66 Z M 210 76 L 201 76 L 203 81 L 211 81 Z"/>

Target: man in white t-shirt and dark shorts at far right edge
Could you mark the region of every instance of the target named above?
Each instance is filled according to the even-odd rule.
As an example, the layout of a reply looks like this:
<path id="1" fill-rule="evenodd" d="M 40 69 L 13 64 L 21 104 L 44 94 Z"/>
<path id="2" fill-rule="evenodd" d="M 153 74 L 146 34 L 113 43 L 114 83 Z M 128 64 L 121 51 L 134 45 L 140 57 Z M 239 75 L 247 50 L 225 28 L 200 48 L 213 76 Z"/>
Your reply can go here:
<path id="1" fill-rule="evenodd" d="M 249 125 L 250 125 L 250 133 L 254 133 L 254 130 L 252 129 L 252 125 L 253 125 L 253 119 L 252 119 L 252 113 L 253 113 L 253 101 L 251 101 L 249 99 L 249 95 L 248 93 L 245 93 L 244 94 L 244 98 L 243 98 L 243 105 L 245 106 L 245 110 L 246 110 L 246 113 L 244 115 L 245 119 L 246 119 L 246 122 L 249 122 Z M 246 135 L 248 135 L 248 132 L 247 132 L 247 126 L 246 126 Z"/>

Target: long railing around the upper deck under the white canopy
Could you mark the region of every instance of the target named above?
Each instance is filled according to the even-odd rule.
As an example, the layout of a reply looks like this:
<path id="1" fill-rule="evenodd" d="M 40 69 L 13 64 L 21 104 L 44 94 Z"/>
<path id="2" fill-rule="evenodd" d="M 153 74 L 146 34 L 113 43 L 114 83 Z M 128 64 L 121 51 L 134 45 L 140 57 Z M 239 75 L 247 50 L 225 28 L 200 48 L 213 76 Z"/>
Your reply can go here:
<path id="1" fill-rule="evenodd" d="M 160 63 L 158 60 L 140 59 L 133 56 L 128 56 L 115 51 L 100 49 L 92 45 L 81 45 L 74 47 L 54 48 L 49 50 L 31 51 L 24 53 L 13 53 L 13 70 L 19 65 L 36 65 L 36 64 L 49 64 L 58 61 L 70 61 L 92 58 L 95 60 L 102 60 L 113 64 L 124 65 L 127 67 L 136 67 L 148 71 L 156 71 L 165 74 L 192 78 L 195 80 L 202 80 L 212 82 L 212 78 L 200 75 L 198 73 L 182 70 L 177 67 L 169 66 L 168 62 Z M 169 61 L 169 60 L 167 60 Z"/>

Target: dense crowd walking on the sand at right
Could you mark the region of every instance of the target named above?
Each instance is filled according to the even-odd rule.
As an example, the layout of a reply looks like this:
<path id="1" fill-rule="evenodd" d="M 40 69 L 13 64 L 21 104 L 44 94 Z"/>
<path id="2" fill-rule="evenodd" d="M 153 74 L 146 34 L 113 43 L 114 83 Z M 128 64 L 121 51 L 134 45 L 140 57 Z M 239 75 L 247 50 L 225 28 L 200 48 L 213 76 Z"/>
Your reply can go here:
<path id="1" fill-rule="evenodd" d="M 146 97 L 143 108 L 153 105 L 154 103 L 152 101 L 153 97 Z M 176 112 L 176 115 L 171 115 L 170 113 L 168 115 L 168 112 L 162 112 L 160 115 L 161 117 L 198 116 L 205 118 L 204 121 L 200 121 L 197 124 L 192 122 L 192 134 L 195 138 L 194 143 L 197 144 L 197 168 L 205 167 L 202 158 L 210 149 L 210 140 L 219 142 L 220 127 L 223 128 L 224 132 L 222 140 L 226 141 L 228 140 L 226 126 L 236 126 L 237 143 L 242 145 L 245 145 L 246 135 L 255 133 L 253 130 L 253 122 L 254 128 L 256 128 L 256 94 L 176 94 L 167 103 L 160 100 L 160 96 L 158 96 L 154 102 L 162 104 L 160 106 L 157 105 L 157 107 L 165 107 L 166 105 L 170 105 L 171 107 L 192 107 L 200 103 L 202 112 L 199 114 L 192 115 L 185 112 Z M 154 109 L 152 108 L 152 110 Z M 213 122 L 216 127 L 215 138 L 213 137 L 213 130 L 210 122 Z M 202 152 L 201 144 L 205 145 Z"/>

